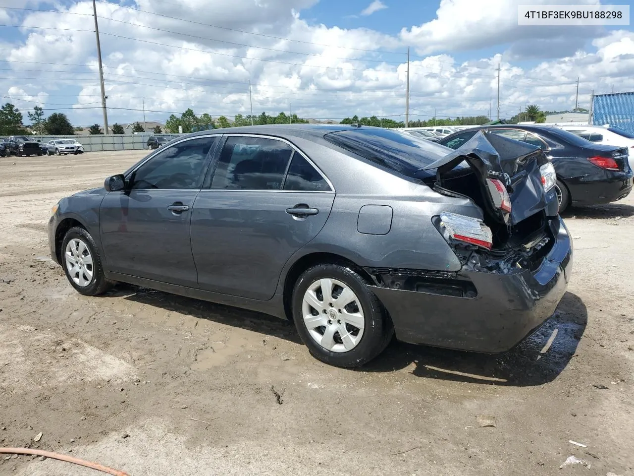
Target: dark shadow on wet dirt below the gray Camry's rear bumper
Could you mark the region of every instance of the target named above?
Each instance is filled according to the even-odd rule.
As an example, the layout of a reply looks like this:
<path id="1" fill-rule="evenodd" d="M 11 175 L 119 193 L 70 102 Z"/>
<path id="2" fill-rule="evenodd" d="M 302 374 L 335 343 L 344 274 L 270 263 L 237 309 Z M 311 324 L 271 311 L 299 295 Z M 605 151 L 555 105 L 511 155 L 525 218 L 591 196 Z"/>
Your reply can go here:
<path id="1" fill-rule="evenodd" d="M 475 354 L 392 341 L 385 352 L 359 371 L 391 372 L 415 365 L 425 378 L 527 387 L 555 380 L 573 358 L 588 313 L 581 299 L 566 293 L 555 315 L 536 333 L 503 354 Z M 555 333 L 550 347 L 542 353 Z"/>

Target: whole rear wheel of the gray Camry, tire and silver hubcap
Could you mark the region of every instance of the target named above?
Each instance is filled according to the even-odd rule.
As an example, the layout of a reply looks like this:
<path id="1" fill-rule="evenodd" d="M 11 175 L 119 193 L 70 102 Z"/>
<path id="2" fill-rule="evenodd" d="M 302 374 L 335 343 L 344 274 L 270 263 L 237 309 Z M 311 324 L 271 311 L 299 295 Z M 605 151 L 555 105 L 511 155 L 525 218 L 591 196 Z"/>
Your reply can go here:
<path id="1" fill-rule="evenodd" d="M 293 291 L 293 320 L 313 357 L 359 367 L 387 347 L 394 327 L 367 284 L 343 265 L 317 265 L 301 275 Z"/>

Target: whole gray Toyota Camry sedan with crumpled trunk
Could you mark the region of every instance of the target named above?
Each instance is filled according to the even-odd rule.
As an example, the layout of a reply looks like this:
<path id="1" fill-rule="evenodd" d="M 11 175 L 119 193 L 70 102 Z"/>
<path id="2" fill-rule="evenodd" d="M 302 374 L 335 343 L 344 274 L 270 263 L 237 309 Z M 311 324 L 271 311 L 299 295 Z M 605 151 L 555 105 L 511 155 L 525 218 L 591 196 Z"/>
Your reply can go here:
<path id="1" fill-rule="evenodd" d="M 127 282 L 292 319 L 355 367 L 396 334 L 503 352 L 566 291 L 572 242 L 533 145 L 451 150 L 390 129 L 202 131 L 61 199 L 53 259 L 87 296 Z"/>

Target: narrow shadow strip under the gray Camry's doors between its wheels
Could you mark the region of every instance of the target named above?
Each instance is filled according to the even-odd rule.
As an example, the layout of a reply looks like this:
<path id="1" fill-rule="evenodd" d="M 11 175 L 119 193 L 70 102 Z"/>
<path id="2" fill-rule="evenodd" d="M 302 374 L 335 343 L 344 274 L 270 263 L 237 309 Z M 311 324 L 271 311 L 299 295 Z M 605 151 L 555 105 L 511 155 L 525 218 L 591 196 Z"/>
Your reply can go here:
<path id="1" fill-rule="evenodd" d="M 139 288 L 131 284 L 120 283 L 104 296 L 122 297 L 129 301 L 143 303 L 167 311 L 193 315 L 198 319 L 219 322 L 231 327 L 241 327 L 269 336 L 275 336 L 296 344 L 302 344 L 292 322 L 272 315 L 262 314 L 237 307 L 210 303 L 177 294 L 163 293 L 154 289 Z"/>

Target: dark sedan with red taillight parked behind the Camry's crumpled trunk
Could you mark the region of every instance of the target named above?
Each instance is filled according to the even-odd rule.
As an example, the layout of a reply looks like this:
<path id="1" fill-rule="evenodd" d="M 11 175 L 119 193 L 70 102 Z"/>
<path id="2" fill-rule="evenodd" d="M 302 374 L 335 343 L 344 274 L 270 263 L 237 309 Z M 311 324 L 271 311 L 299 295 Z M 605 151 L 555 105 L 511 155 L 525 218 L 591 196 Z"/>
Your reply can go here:
<path id="1" fill-rule="evenodd" d="M 570 205 L 614 202 L 626 197 L 632 189 L 633 172 L 626 147 L 592 143 L 555 127 L 481 126 L 454 133 L 438 143 L 458 149 L 482 130 L 536 145 L 548 155 L 557 172 L 559 211 Z"/>

